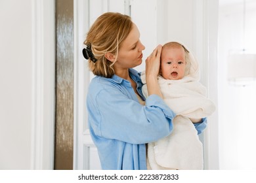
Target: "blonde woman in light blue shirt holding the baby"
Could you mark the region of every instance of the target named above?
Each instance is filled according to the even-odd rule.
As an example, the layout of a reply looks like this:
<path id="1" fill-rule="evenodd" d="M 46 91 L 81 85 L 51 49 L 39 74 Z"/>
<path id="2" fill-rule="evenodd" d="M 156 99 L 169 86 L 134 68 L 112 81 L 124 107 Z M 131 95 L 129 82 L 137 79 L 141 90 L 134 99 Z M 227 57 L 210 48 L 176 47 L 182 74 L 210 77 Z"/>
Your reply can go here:
<path id="1" fill-rule="evenodd" d="M 87 93 L 91 137 L 102 169 L 146 169 L 146 143 L 171 133 L 175 113 L 158 85 L 161 46 L 146 59 L 149 97 L 132 69 L 142 63 L 144 45 L 129 16 L 107 12 L 87 34 L 83 55 L 96 75 Z M 198 125 L 198 130 L 205 122 Z"/>

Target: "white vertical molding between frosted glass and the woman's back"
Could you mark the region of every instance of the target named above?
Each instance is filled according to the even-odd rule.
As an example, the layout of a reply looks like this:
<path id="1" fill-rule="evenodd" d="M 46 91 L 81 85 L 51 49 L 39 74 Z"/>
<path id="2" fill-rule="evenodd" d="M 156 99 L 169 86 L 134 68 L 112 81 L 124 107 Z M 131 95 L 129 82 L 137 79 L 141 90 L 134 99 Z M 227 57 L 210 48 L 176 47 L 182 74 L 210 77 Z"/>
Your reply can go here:
<path id="1" fill-rule="evenodd" d="M 73 169 L 84 169 L 83 133 L 87 128 L 86 93 L 90 73 L 83 59 L 83 41 L 89 29 L 89 0 L 74 0 L 74 163 Z M 89 134 L 87 134 L 89 135 Z"/>

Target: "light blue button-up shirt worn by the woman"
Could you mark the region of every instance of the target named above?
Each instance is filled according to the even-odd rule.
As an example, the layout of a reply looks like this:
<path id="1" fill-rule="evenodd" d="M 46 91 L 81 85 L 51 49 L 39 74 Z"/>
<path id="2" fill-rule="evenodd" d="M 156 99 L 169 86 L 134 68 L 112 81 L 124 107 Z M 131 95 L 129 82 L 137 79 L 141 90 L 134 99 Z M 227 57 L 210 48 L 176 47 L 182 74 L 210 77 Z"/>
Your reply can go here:
<path id="1" fill-rule="evenodd" d="M 142 95 L 140 75 L 129 69 Z M 169 135 L 175 113 L 158 95 L 150 95 L 140 105 L 131 83 L 119 76 L 96 76 L 87 93 L 89 129 L 98 149 L 102 169 L 146 169 L 145 143 Z M 206 120 L 196 124 L 198 133 Z"/>

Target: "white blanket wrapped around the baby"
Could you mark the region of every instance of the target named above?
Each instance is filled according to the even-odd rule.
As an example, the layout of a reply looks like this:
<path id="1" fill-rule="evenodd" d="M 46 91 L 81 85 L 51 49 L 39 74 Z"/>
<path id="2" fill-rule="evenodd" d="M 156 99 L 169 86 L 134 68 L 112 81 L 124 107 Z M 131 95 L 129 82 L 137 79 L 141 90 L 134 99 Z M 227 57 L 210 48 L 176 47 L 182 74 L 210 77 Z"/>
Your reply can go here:
<path id="1" fill-rule="evenodd" d="M 148 144 L 150 169 L 203 169 L 203 146 L 189 118 L 205 118 L 215 111 L 200 84 L 198 63 L 189 54 L 189 68 L 181 80 L 165 80 L 158 76 L 165 103 L 177 114 L 171 135 Z M 141 74 L 142 92 L 148 97 L 146 76 Z"/>

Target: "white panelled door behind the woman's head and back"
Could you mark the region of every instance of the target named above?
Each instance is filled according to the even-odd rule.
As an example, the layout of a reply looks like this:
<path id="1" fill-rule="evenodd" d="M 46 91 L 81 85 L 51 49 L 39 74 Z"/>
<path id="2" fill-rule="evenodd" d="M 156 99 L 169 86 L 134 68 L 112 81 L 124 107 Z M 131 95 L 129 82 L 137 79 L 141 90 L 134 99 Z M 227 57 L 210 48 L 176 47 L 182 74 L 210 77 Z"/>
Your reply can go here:
<path id="1" fill-rule="evenodd" d="M 157 42 L 156 0 L 75 0 L 74 1 L 74 169 L 100 169 L 95 145 L 89 134 L 86 93 L 93 74 L 81 54 L 89 27 L 104 12 L 120 12 L 131 16 L 140 30 L 140 41 L 146 46 L 144 56 Z M 145 17 L 150 21 L 145 21 Z M 146 39 L 150 37 L 150 39 Z M 144 63 L 137 68 L 142 71 Z"/>

